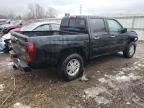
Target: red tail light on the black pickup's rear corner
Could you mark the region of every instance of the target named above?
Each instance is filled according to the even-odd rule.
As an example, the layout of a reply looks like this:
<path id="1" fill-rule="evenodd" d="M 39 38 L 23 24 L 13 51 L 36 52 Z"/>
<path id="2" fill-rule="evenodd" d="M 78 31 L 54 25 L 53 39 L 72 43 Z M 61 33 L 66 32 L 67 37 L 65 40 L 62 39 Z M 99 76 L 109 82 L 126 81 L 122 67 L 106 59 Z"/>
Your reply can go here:
<path id="1" fill-rule="evenodd" d="M 32 61 L 32 58 L 34 56 L 35 53 L 35 45 L 32 42 L 28 42 L 25 45 L 25 50 L 26 50 L 26 60 L 28 62 Z"/>

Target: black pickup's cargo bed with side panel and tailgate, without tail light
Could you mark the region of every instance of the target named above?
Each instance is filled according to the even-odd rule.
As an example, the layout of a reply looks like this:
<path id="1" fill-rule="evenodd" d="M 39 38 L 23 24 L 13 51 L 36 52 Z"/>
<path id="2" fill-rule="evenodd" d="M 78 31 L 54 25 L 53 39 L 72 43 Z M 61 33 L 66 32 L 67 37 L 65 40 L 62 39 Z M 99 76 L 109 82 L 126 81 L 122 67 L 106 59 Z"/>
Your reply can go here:
<path id="1" fill-rule="evenodd" d="M 89 35 L 87 33 L 65 32 L 65 31 L 12 31 L 11 41 L 13 55 L 32 68 L 47 67 L 55 65 L 60 51 L 65 48 L 83 46 L 87 49 Z M 34 43 L 36 52 L 33 60 L 26 59 L 26 44 Z M 88 49 L 87 49 L 88 50 Z"/>

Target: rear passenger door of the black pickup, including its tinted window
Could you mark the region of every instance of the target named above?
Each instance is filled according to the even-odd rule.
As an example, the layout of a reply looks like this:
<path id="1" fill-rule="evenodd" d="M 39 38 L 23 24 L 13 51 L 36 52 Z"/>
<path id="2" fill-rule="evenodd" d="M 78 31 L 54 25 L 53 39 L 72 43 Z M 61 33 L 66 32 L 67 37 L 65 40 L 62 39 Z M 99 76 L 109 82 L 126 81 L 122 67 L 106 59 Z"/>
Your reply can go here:
<path id="1" fill-rule="evenodd" d="M 110 35 L 103 18 L 89 19 L 91 55 L 99 56 L 109 52 L 111 47 Z"/>

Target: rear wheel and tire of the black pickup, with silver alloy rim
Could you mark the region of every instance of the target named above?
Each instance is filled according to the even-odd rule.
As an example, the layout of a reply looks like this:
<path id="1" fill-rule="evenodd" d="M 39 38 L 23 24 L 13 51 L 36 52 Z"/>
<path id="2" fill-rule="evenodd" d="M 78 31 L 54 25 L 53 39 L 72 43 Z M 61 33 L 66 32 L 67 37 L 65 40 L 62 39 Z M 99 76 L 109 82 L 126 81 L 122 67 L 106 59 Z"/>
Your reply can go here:
<path id="1" fill-rule="evenodd" d="M 58 65 L 58 73 L 63 80 L 67 81 L 80 77 L 83 73 L 82 57 L 77 53 L 62 57 Z"/>

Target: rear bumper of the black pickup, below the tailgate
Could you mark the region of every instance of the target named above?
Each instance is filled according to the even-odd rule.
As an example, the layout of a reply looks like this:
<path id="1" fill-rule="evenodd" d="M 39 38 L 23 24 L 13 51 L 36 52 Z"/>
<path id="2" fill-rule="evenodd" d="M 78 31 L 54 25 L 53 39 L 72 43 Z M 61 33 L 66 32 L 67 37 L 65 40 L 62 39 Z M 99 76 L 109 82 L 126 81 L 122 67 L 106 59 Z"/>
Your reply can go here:
<path id="1" fill-rule="evenodd" d="M 14 63 L 14 68 L 19 69 L 21 71 L 29 72 L 32 69 L 28 66 L 28 64 L 18 58 L 18 56 L 12 51 L 10 51 L 10 57 Z"/>

